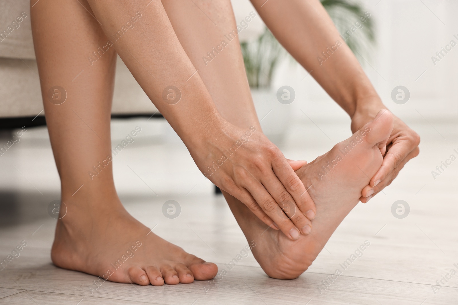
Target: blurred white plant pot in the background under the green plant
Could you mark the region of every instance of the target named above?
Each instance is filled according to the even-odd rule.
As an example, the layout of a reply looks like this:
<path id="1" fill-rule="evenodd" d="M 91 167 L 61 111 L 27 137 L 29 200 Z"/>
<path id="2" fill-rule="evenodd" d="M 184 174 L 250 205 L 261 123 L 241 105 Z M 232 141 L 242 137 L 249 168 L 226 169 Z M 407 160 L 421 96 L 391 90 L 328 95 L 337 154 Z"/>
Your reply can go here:
<path id="1" fill-rule="evenodd" d="M 291 105 L 278 102 L 277 92 L 271 88 L 251 88 L 251 96 L 263 133 L 273 144 L 283 144 L 291 120 Z"/>

